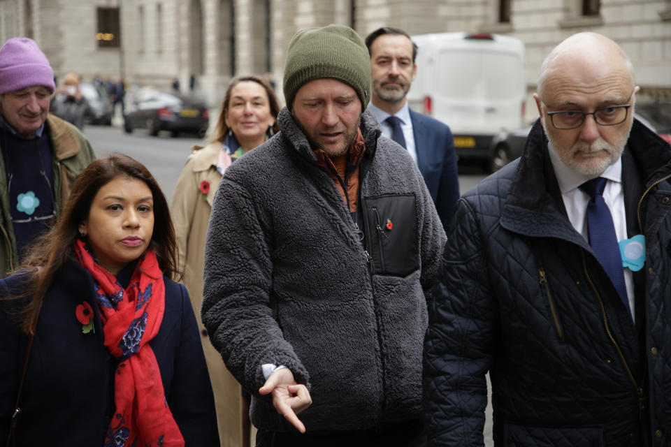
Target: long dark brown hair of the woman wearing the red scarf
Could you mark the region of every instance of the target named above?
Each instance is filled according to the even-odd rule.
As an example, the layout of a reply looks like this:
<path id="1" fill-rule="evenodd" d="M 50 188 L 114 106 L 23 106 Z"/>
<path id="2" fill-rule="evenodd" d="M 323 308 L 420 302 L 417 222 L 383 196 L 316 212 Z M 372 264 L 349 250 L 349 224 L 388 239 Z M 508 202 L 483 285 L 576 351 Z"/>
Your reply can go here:
<path id="1" fill-rule="evenodd" d="M 177 272 L 177 242 L 170 208 L 156 179 L 142 163 L 122 154 L 93 161 L 72 186 L 70 197 L 56 225 L 31 246 L 22 268 L 36 268 L 32 287 L 27 291 L 29 304 L 24 309 L 22 328 L 31 333 L 44 297 L 56 275 L 73 254 L 79 226 L 89 217 L 91 204 L 98 191 L 116 177 L 130 177 L 145 182 L 154 198 L 154 233 L 150 249 L 156 252 L 159 267 L 167 276 Z"/>

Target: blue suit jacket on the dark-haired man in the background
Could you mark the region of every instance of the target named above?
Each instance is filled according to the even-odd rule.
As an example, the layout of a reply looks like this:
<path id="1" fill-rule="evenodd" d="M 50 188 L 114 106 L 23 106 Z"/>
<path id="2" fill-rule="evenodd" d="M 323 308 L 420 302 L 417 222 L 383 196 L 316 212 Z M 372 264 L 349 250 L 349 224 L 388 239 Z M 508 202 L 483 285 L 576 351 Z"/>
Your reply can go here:
<path id="1" fill-rule="evenodd" d="M 459 176 L 452 132 L 437 119 L 412 110 L 410 119 L 417 151 L 417 166 L 447 233 L 454 205 L 459 199 Z"/>

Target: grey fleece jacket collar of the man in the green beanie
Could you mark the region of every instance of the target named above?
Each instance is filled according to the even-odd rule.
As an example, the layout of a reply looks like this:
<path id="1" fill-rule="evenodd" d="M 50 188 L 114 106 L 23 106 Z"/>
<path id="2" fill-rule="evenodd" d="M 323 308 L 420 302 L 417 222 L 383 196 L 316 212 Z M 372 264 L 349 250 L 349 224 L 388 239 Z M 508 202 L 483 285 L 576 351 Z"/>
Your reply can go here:
<path id="1" fill-rule="evenodd" d="M 305 138 L 305 133 L 298 127 L 289 109 L 284 107 L 280 110 L 280 114 L 277 115 L 277 122 L 280 123 L 283 137 L 289 141 L 296 152 L 305 159 L 317 163 L 317 156 L 312 151 L 308 138 Z M 361 129 L 361 135 L 363 135 L 363 140 L 366 143 L 366 152 L 363 153 L 363 157 L 372 159 L 377 149 L 377 139 L 382 135 L 380 124 L 372 113 L 364 110 L 361 114 L 359 129 Z"/>

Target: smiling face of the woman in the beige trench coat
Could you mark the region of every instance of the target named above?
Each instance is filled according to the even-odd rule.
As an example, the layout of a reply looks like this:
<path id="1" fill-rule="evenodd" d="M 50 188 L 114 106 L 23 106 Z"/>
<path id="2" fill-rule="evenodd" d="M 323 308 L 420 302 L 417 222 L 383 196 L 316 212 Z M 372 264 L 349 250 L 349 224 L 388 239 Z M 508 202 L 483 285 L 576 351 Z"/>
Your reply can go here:
<path id="1" fill-rule="evenodd" d="M 270 115 L 266 89 L 258 82 L 239 82 L 231 89 L 231 100 L 224 112 L 224 120 L 240 144 L 247 140 L 263 142 L 266 131 L 275 124 L 275 117 Z"/>

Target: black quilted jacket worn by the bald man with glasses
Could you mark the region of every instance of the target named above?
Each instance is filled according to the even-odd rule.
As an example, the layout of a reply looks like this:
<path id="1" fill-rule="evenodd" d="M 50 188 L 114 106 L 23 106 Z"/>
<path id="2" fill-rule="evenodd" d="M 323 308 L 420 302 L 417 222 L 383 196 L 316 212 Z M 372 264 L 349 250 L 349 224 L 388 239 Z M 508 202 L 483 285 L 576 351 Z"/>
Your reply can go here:
<path id="1" fill-rule="evenodd" d="M 497 446 L 671 445 L 670 147 L 634 122 L 623 154 L 629 237 L 647 245 L 638 329 L 545 147 L 537 122 L 521 159 L 459 200 L 425 341 L 429 445 L 483 445 L 487 371 Z"/>

